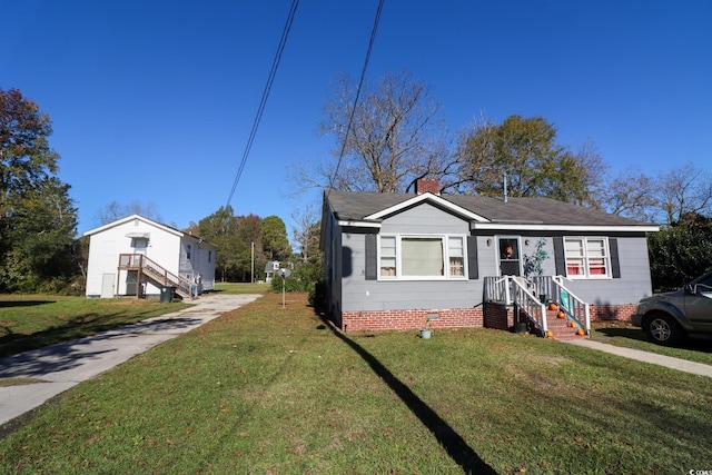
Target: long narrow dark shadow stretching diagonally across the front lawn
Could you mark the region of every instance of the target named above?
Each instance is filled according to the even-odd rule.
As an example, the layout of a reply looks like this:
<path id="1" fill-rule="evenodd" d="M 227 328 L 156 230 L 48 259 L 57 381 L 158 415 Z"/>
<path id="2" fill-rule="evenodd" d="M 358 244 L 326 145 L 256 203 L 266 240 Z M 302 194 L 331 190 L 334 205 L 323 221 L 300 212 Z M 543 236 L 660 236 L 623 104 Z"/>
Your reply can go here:
<path id="1" fill-rule="evenodd" d="M 465 439 L 457 434 L 457 432 L 447 424 L 441 416 L 437 415 L 423 399 L 421 399 L 408 386 L 406 386 L 400 379 L 398 379 L 393 373 L 388 370 L 378 359 L 376 359 L 370 353 L 364 349 L 356 342 L 348 338 L 343 333 L 338 331 L 330 321 L 323 317 L 323 321 L 334 335 L 336 335 L 342 342 L 346 343 L 354 349 L 364 360 L 370 366 L 370 368 L 378 375 L 390 389 L 405 403 L 405 405 L 413 412 L 413 414 L 421 419 L 421 423 L 437 438 L 443 448 L 447 452 L 457 465 L 463 468 L 466 474 L 496 474 L 496 472 L 487 465 L 479 455 L 473 448 L 467 445 Z"/>

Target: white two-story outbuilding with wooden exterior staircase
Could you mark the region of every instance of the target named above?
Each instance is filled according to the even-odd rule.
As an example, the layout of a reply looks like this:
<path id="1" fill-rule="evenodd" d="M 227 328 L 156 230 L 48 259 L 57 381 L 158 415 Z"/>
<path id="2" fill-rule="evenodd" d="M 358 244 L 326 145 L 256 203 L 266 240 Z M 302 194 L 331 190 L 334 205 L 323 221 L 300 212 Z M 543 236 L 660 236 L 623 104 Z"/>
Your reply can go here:
<path id="1" fill-rule="evenodd" d="M 192 298 L 215 288 L 217 247 L 170 226 L 132 215 L 85 232 L 89 237 L 87 297 Z"/>

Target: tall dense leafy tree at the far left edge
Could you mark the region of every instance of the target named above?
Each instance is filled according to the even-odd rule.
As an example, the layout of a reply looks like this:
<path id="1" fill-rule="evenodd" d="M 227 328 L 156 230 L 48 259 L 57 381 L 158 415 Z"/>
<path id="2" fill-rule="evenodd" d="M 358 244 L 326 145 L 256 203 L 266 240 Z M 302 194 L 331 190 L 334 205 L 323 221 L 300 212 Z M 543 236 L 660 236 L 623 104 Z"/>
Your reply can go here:
<path id="1" fill-rule="evenodd" d="M 77 209 L 56 174 L 52 128 L 17 89 L 0 90 L 0 290 L 33 291 L 69 279 Z"/>

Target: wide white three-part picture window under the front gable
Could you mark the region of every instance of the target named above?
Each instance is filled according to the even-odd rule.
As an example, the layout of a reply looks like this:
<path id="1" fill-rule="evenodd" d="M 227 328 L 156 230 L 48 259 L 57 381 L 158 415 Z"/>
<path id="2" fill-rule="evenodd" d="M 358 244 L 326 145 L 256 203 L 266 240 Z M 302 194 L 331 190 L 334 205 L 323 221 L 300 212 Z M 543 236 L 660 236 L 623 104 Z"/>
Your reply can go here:
<path id="1" fill-rule="evenodd" d="M 380 236 L 380 279 L 465 278 L 464 236 Z"/>

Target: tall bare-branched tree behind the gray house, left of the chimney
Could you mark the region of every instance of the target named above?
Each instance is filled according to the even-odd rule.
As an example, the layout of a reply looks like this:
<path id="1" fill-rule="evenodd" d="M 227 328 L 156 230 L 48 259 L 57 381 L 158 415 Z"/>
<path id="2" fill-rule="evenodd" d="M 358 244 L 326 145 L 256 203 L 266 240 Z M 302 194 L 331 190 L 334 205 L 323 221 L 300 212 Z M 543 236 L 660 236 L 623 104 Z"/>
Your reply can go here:
<path id="1" fill-rule="evenodd" d="M 407 71 L 388 72 L 363 86 L 354 108 L 356 93 L 346 76 L 337 78 L 320 123 L 336 138 L 336 159 L 307 164 L 294 174 L 300 186 L 399 192 L 443 168 L 444 122 L 425 82 Z"/>

